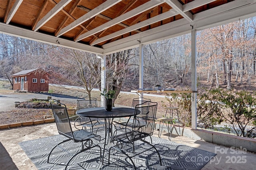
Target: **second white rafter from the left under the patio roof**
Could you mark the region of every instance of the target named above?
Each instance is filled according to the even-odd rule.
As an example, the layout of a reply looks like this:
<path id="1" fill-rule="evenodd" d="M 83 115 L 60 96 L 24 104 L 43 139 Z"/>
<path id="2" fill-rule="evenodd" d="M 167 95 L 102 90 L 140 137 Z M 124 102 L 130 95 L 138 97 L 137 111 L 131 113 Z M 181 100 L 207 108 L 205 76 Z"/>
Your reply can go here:
<path id="1" fill-rule="evenodd" d="M 54 17 L 60 10 L 62 10 L 68 3 L 70 3 L 72 0 L 61 0 L 50 12 L 48 12 L 38 23 L 36 24 L 36 27 L 34 31 L 37 31 L 40 27 L 42 27 L 47 21 L 49 21 L 52 17 Z"/>

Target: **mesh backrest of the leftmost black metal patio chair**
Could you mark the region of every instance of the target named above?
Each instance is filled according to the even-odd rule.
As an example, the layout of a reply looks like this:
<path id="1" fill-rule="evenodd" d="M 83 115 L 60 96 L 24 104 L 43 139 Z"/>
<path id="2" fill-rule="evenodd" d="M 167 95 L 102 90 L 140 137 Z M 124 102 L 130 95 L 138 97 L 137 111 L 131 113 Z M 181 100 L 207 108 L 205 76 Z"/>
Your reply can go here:
<path id="1" fill-rule="evenodd" d="M 52 112 L 55 118 L 59 134 L 74 140 L 72 127 L 70 125 L 70 120 L 68 117 L 67 107 L 66 105 L 61 104 L 58 101 L 55 102 L 51 102 L 50 105 L 52 107 Z"/>

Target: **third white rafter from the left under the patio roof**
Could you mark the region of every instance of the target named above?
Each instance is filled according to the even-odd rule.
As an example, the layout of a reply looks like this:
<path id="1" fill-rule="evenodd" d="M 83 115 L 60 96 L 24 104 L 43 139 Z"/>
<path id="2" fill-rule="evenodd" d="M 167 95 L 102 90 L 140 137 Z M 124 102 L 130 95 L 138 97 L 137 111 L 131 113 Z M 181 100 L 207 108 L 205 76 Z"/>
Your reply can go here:
<path id="1" fill-rule="evenodd" d="M 114 6 L 115 4 L 117 4 L 120 1 L 122 1 L 122 0 L 115 0 L 115 1 L 108 0 L 108 1 L 100 4 L 99 6 L 97 6 L 93 10 L 91 10 L 90 12 L 84 14 L 83 16 L 81 16 L 80 18 L 75 20 L 74 22 L 70 23 L 68 26 L 66 26 L 63 29 L 61 29 L 61 31 L 60 31 L 60 33 L 58 33 L 57 37 L 59 37 L 60 35 L 68 32 L 68 31 L 70 31 L 71 29 L 73 29 L 74 27 L 80 25 L 81 23 L 84 23 L 84 22 L 90 20 L 91 18 L 97 16 L 98 14 L 100 14 L 103 11 L 107 10 L 108 8 Z"/>

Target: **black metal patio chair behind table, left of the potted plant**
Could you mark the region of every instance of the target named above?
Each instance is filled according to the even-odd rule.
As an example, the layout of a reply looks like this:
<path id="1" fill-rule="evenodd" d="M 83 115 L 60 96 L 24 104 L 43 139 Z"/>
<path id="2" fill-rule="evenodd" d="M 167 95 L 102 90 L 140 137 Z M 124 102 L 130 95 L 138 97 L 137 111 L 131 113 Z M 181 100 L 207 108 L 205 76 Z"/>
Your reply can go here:
<path id="1" fill-rule="evenodd" d="M 89 97 L 78 98 L 76 100 L 76 102 L 77 102 L 78 110 L 84 109 L 84 108 L 98 107 L 96 98 L 89 98 Z M 91 131 L 94 133 L 97 133 L 98 131 L 105 130 L 104 119 L 79 116 L 75 121 L 75 125 L 76 125 L 76 127 L 77 127 L 77 125 L 82 125 L 84 130 Z M 78 129 L 80 129 L 80 128 L 78 128 Z"/>

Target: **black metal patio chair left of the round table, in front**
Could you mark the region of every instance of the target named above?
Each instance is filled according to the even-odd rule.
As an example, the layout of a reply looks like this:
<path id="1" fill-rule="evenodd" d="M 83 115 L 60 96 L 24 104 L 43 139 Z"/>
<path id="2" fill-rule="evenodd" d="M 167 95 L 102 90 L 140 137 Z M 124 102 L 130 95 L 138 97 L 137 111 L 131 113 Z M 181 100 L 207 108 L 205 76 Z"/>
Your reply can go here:
<path id="1" fill-rule="evenodd" d="M 96 135 L 92 132 L 86 131 L 84 129 L 78 129 L 76 131 L 72 130 L 72 126 L 70 124 L 70 119 L 68 117 L 68 112 L 67 112 L 67 108 L 66 105 L 61 104 L 60 102 L 56 101 L 56 103 L 50 103 L 51 107 L 52 107 L 52 111 L 53 111 L 53 115 L 55 118 L 55 122 L 58 128 L 58 133 L 60 135 L 65 136 L 67 139 L 64 139 L 62 142 L 58 143 L 49 153 L 48 155 L 48 159 L 47 162 L 51 163 L 50 160 L 53 160 L 54 158 L 50 159 L 52 152 L 54 151 L 54 149 L 56 149 L 56 147 L 60 148 L 61 150 L 64 150 L 65 152 L 67 152 L 68 154 L 71 154 L 71 158 L 69 159 L 69 161 L 66 164 L 60 164 L 60 165 L 64 165 L 65 166 L 65 170 L 66 168 L 69 166 L 70 161 L 73 160 L 73 158 L 80 154 L 81 152 L 84 152 L 86 150 L 89 149 L 93 149 L 94 147 L 98 147 L 100 150 L 100 161 L 101 161 L 101 157 L 102 157 L 102 151 L 101 151 L 101 147 L 99 145 L 95 145 L 93 143 L 92 139 L 98 140 L 100 141 L 101 137 L 100 135 Z M 75 143 L 81 143 L 81 150 L 79 152 L 76 153 L 71 153 L 69 148 L 65 149 L 61 146 L 62 143 L 65 143 L 67 141 L 74 141 Z"/>

